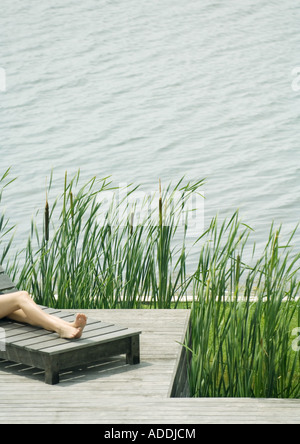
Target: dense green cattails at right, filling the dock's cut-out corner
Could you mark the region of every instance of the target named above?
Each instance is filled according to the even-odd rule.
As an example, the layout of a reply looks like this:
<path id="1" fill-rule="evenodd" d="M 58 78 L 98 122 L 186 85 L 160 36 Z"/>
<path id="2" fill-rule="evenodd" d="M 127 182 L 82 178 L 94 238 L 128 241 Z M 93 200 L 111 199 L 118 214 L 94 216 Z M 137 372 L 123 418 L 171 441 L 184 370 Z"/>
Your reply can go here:
<path id="1" fill-rule="evenodd" d="M 202 238 L 188 345 L 191 395 L 299 398 L 291 332 L 299 322 L 300 255 L 290 255 L 290 242 L 280 246 L 280 230 L 272 228 L 263 255 L 247 266 L 248 235 L 236 214 L 220 230 L 215 219 L 208 242 Z"/>

